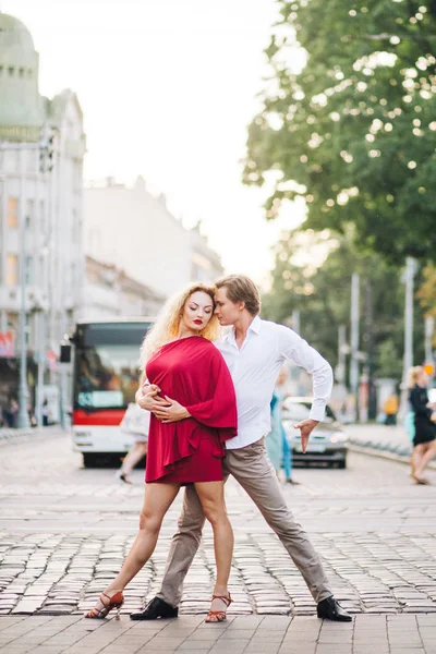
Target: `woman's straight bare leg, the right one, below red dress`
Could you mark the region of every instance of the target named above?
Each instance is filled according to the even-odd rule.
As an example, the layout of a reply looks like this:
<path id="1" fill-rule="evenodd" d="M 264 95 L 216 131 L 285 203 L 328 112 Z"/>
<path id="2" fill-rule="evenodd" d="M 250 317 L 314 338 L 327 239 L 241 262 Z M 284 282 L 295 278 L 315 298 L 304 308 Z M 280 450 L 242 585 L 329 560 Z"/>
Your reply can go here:
<path id="1" fill-rule="evenodd" d="M 223 482 L 202 482 L 195 484 L 203 510 L 214 531 L 214 550 L 217 577 L 214 595 L 228 596 L 228 583 L 233 556 L 233 530 L 227 516 Z M 226 611 L 227 604 L 214 601 L 214 610 Z"/>

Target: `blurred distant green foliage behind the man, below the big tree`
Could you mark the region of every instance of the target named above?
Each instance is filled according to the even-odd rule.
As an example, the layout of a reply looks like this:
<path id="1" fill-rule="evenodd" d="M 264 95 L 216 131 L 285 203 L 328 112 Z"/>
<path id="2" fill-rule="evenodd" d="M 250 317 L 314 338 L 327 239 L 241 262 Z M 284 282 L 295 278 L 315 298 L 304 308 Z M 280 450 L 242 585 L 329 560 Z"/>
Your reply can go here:
<path id="1" fill-rule="evenodd" d="M 350 232 L 284 233 L 276 245 L 272 286 L 263 300 L 263 315 L 292 325 L 300 312 L 300 332 L 335 366 L 338 328 L 350 338 L 351 270 L 361 279 L 361 350 L 373 359 L 377 377 L 401 378 L 404 284 L 398 268 L 380 255 L 363 254 Z M 420 275 L 420 274 L 419 274 Z M 415 302 L 414 360 L 422 362 L 423 310 Z"/>

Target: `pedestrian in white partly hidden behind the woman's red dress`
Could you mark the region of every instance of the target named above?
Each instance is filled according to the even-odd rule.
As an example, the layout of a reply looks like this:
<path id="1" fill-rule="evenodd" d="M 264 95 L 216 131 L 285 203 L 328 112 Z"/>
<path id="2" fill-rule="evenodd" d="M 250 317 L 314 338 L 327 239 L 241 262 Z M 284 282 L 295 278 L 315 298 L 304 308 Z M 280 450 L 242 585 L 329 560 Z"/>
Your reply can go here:
<path id="1" fill-rule="evenodd" d="M 124 484 L 132 483 L 130 474 L 135 465 L 147 456 L 149 420 L 149 412 L 132 402 L 120 423 L 120 429 L 133 438 L 132 448 L 124 457 L 121 468 L 116 472 L 117 479 L 124 482 Z"/>

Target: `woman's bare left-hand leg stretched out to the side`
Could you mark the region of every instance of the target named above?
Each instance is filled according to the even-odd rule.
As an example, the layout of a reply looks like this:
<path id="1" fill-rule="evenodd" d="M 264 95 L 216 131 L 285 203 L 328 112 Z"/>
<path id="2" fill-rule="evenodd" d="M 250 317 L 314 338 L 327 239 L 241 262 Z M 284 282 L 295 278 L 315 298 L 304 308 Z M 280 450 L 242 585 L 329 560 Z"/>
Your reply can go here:
<path id="1" fill-rule="evenodd" d="M 178 484 L 147 484 L 140 516 L 140 532 L 114 580 L 105 593 L 122 591 L 140 572 L 155 550 L 164 517 L 179 493 Z"/>

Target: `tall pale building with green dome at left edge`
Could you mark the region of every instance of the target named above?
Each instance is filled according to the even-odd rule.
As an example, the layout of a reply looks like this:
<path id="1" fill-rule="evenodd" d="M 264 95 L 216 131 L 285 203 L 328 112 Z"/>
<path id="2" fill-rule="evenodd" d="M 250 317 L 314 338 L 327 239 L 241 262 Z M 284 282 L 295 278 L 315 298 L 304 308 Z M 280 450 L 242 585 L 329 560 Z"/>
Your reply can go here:
<path id="1" fill-rule="evenodd" d="M 0 13 L 0 405 L 17 391 L 21 269 L 32 404 L 35 361 L 53 368 L 82 303 L 83 114 L 71 90 L 43 97 L 38 70 L 28 29 Z"/>

